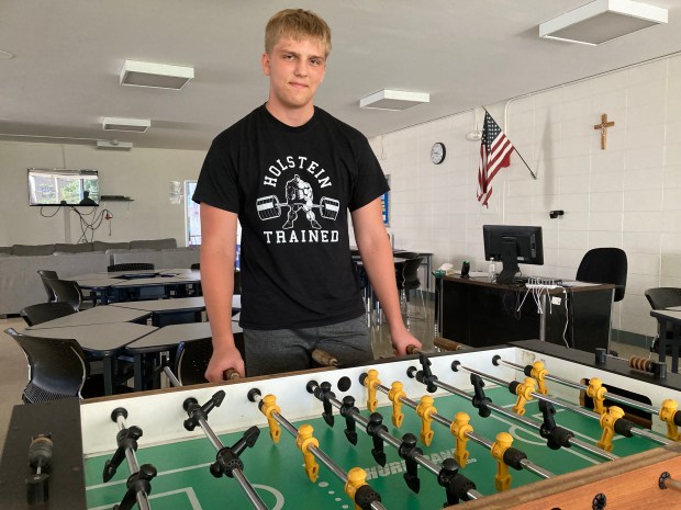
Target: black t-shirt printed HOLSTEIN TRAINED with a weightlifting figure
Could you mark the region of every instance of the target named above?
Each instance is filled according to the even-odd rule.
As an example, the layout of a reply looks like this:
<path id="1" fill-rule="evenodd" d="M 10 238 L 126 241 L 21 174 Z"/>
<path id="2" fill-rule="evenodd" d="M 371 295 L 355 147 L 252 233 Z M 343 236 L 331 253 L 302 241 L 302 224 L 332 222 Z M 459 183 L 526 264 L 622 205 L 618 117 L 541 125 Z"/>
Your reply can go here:
<path id="1" fill-rule="evenodd" d="M 367 138 L 319 107 L 291 127 L 263 105 L 221 133 L 193 200 L 238 214 L 242 327 L 310 328 L 361 316 L 347 211 L 387 191 Z"/>

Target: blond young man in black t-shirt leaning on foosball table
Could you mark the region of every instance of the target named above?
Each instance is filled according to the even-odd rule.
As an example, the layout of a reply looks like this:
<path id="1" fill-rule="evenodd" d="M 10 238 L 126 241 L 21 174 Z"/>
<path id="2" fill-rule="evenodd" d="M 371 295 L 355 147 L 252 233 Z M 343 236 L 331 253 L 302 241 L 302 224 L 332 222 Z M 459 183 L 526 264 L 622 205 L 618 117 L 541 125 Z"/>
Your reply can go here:
<path id="1" fill-rule="evenodd" d="M 227 369 L 242 376 L 303 370 L 316 348 L 340 364 L 372 359 L 348 209 L 394 349 L 421 347 L 400 314 L 381 220 L 386 178 L 366 137 L 313 103 L 330 52 L 324 20 L 301 9 L 275 14 L 261 57 L 268 100 L 213 140 L 201 169 L 193 200 L 201 204 L 201 281 L 213 335 L 209 381 Z M 246 367 L 230 316 L 237 218 Z"/>

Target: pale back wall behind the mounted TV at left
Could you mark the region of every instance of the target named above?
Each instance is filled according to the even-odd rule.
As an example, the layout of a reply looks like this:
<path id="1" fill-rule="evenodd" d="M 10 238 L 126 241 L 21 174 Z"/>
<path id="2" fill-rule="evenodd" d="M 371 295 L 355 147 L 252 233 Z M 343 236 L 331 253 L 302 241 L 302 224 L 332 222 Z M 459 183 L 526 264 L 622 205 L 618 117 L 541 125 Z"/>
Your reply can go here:
<path id="1" fill-rule="evenodd" d="M 41 216 L 41 209 L 45 215 L 53 215 L 56 207 L 29 206 L 29 167 L 99 170 L 101 194 L 127 195 L 134 200 L 102 203 L 96 209 L 96 215 L 104 207 L 110 209 L 113 219 L 102 222 L 94 240 L 174 237 L 178 246 L 183 246 L 183 205 L 170 203 L 169 181 L 197 179 L 204 157 L 205 152 L 199 150 L 105 151 L 83 145 L 0 141 L 0 246 L 76 242 L 80 237 L 76 214 L 68 213 L 70 239 L 67 239 L 65 208 L 47 218 Z M 79 207 L 79 211 L 89 213 L 91 207 Z M 92 220 L 92 216 L 87 218 Z M 88 240 L 92 240 L 90 235 Z"/>

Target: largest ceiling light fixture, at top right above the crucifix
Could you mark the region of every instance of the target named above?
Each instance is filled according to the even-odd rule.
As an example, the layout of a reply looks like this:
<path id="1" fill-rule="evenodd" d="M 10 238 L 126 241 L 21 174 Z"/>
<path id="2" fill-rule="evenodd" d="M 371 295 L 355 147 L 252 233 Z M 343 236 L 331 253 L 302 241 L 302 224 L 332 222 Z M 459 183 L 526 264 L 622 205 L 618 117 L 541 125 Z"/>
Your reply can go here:
<path id="1" fill-rule="evenodd" d="M 539 24 L 539 36 L 595 46 L 667 19 L 667 9 L 648 3 L 594 0 Z"/>

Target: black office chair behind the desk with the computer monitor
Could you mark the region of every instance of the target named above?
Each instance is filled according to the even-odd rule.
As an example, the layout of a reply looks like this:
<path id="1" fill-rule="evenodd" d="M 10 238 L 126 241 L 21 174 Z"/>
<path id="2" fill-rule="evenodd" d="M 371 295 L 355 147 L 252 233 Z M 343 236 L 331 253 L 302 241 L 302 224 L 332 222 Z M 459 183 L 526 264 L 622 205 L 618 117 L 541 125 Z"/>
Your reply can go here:
<path id="1" fill-rule="evenodd" d="M 594 248 L 584 253 L 577 269 L 576 280 L 589 283 L 615 285 L 614 301 L 624 298 L 626 290 L 627 259 L 619 248 Z"/>

